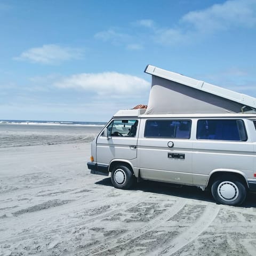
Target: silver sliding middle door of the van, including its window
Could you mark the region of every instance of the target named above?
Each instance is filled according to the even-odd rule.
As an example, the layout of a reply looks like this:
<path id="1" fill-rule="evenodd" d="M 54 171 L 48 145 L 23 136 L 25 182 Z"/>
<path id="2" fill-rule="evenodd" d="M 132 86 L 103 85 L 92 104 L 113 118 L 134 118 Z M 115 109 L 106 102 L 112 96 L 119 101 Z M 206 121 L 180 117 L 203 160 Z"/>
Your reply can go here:
<path id="1" fill-rule="evenodd" d="M 190 131 L 191 120 L 187 119 L 141 120 L 138 139 L 141 178 L 191 184 Z"/>

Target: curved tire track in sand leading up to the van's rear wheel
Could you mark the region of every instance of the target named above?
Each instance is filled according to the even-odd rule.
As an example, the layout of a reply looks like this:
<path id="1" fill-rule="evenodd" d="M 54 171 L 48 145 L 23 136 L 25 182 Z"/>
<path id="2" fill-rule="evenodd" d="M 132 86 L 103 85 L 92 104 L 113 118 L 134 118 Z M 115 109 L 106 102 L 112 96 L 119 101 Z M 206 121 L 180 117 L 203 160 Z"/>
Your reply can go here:
<path id="1" fill-rule="evenodd" d="M 172 239 L 169 245 L 164 245 L 165 249 L 156 251 L 155 255 L 172 255 L 196 239 L 204 230 L 207 229 L 219 213 L 219 205 L 207 205 L 205 211 L 197 221 L 185 232 Z"/>

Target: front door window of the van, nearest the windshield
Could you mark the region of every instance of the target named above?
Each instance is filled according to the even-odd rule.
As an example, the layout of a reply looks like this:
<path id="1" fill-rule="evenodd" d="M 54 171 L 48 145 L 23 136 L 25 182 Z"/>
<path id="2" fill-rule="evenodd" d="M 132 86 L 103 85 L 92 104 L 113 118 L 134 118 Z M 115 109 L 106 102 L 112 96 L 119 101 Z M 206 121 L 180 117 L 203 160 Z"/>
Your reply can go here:
<path id="1" fill-rule="evenodd" d="M 108 127 L 109 137 L 135 137 L 137 132 L 138 120 L 114 120 Z M 103 133 L 101 134 L 103 135 Z"/>

